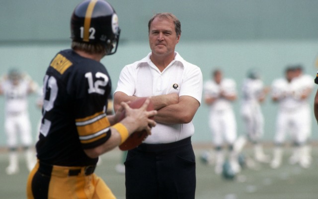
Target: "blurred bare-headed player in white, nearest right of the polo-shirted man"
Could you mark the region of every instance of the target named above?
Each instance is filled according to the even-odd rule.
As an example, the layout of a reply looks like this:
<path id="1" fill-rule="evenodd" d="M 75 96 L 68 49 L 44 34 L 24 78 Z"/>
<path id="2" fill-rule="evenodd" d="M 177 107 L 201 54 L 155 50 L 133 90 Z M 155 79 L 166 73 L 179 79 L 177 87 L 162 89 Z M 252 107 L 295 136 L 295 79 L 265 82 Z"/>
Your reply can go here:
<path id="1" fill-rule="evenodd" d="M 237 139 L 237 123 L 232 102 L 237 100 L 236 83 L 224 79 L 220 69 L 214 70 L 212 80 L 204 85 L 204 101 L 210 106 L 209 126 L 216 152 L 215 172 L 222 173 L 225 161 L 224 145 L 229 147 L 229 160 L 235 172 L 239 172 L 238 154 L 234 150 Z"/>

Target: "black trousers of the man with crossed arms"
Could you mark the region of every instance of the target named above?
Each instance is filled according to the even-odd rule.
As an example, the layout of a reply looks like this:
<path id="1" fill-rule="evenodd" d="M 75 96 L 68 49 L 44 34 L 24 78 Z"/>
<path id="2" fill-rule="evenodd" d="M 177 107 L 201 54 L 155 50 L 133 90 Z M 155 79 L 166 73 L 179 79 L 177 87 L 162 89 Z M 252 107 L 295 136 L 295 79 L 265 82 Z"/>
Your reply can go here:
<path id="1" fill-rule="evenodd" d="M 141 144 L 125 162 L 126 199 L 194 199 L 196 176 L 191 138 Z"/>

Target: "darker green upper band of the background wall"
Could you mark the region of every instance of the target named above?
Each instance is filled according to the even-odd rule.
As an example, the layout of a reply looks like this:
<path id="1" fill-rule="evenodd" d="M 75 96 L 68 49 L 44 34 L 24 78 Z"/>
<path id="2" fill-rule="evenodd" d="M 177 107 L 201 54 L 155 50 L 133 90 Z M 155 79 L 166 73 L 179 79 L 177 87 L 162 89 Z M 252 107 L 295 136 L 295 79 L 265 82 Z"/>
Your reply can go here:
<path id="1" fill-rule="evenodd" d="M 0 42 L 65 41 L 81 0 L 0 0 Z M 109 0 L 121 38 L 144 41 L 157 12 L 174 13 L 185 40 L 315 39 L 317 0 Z"/>

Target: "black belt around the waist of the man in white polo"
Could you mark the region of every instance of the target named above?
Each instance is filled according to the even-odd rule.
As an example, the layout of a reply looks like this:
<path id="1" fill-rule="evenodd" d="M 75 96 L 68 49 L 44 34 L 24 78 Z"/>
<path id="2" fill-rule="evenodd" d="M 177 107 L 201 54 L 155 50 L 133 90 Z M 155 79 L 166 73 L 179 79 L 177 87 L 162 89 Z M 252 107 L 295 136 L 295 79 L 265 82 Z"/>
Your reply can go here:
<path id="1" fill-rule="evenodd" d="M 189 144 L 191 144 L 191 137 L 187 137 L 176 142 L 164 143 L 164 144 L 142 143 L 136 148 L 136 150 L 144 151 L 144 152 L 161 152 L 166 150 L 173 150 L 175 148 L 183 147 Z"/>

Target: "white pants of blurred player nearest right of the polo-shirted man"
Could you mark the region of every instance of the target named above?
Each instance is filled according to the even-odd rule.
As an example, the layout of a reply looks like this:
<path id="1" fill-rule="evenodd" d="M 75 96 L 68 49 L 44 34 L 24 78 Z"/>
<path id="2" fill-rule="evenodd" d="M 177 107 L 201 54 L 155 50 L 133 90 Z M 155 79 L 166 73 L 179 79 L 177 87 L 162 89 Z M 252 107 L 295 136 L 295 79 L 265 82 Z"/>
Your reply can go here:
<path id="1" fill-rule="evenodd" d="M 211 111 L 209 125 L 214 145 L 233 144 L 236 140 L 237 123 L 232 109 Z"/>

